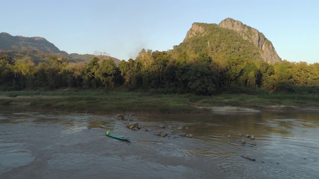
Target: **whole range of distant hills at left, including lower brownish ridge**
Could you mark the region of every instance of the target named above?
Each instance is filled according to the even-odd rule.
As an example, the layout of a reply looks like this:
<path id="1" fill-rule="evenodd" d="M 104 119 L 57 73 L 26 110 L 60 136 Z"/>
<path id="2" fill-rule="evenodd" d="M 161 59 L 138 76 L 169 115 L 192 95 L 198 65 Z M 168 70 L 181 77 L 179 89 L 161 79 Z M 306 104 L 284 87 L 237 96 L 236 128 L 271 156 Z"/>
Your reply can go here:
<path id="1" fill-rule="evenodd" d="M 86 62 L 88 63 L 92 57 L 97 56 L 100 60 L 113 59 L 115 64 L 119 64 L 121 60 L 106 55 L 91 54 L 68 54 L 59 50 L 53 43 L 47 41 L 43 37 L 23 37 L 12 36 L 8 33 L 0 33 L 0 55 L 8 55 L 13 59 L 31 57 L 34 63 L 47 62 L 47 58 L 51 55 L 60 58 L 66 57 L 70 62 Z"/>

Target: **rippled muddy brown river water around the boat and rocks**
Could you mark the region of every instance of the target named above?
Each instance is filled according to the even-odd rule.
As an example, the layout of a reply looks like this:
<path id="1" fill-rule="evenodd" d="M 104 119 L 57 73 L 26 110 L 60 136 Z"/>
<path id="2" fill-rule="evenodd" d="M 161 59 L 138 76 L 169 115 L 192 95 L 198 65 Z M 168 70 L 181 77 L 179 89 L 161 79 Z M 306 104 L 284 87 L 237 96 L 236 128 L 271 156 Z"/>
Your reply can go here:
<path id="1" fill-rule="evenodd" d="M 319 112 L 143 114 L 132 118 L 144 128 L 130 130 L 126 121 L 111 115 L 0 106 L 0 178 L 319 178 Z M 184 129 L 177 133 L 194 137 L 174 134 L 180 125 Z M 106 129 L 132 141 L 110 138 Z M 156 136 L 157 131 L 170 136 Z M 257 145 L 242 145 L 242 139 Z"/>

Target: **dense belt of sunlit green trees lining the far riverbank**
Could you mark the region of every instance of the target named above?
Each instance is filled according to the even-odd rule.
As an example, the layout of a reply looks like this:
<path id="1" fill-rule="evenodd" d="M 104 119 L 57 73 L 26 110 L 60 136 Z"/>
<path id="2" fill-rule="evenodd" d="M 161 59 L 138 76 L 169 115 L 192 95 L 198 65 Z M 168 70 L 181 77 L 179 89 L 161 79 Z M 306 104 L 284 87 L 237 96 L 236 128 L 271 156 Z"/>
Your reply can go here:
<path id="1" fill-rule="evenodd" d="M 34 63 L 29 55 L 17 59 L 0 55 L 0 74 L 0 90 L 116 89 L 198 95 L 319 92 L 319 63 L 268 64 L 203 52 L 190 57 L 178 49 L 143 49 L 135 60 L 122 60 L 119 65 L 98 57 L 85 63 L 52 55 L 47 62 Z"/>

